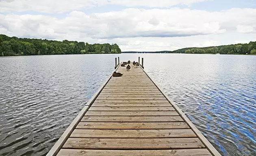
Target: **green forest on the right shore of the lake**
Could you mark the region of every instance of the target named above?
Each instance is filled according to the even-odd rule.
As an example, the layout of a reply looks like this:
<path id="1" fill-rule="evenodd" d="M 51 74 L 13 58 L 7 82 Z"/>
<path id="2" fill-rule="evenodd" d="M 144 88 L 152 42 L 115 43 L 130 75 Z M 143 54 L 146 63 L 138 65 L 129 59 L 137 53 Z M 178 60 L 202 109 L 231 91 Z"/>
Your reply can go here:
<path id="1" fill-rule="evenodd" d="M 256 42 L 246 44 L 221 45 L 216 47 L 205 48 L 183 48 L 172 51 L 171 53 L 186 54 L 256 54 Z"/>

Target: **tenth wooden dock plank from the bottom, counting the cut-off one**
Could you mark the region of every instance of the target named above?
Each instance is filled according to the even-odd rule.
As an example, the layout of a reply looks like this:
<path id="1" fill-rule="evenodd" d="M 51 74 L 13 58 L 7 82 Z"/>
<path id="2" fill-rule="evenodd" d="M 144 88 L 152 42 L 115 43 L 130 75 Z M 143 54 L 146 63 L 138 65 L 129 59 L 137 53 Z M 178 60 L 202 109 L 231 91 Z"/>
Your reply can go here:
<path id="1" fill-rule="evenodd" d="M 97 100 L 166 100 L 165 97 L 98 97 Z"/>

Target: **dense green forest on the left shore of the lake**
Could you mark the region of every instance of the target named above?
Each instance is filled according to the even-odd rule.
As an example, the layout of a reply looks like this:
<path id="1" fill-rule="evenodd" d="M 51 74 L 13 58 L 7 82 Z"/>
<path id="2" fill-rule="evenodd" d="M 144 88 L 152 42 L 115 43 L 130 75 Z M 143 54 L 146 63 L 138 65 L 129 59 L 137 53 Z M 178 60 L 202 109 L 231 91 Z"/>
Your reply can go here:
<path id="1" fill-rule="evenodd" d="M 77 41 L 52 41 L 8 37 L 0 34 L 0 56 L 55 55 L 55 54 L 119 54 L 117 44 L 89 44 Z"/>

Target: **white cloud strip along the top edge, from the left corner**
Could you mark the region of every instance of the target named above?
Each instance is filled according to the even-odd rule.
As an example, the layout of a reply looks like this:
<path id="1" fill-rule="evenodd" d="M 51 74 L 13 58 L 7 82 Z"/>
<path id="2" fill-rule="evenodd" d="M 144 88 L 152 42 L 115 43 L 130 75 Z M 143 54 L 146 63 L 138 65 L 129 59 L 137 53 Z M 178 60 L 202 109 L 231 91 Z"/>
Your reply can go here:
<path id="1" fill-rule="evenodd" d="M 0 12 L 37 11 L 43 13 L 63 13 L 90 9 L 106 4 L 121 6 L 147 6 L 169 8 L 178 4 L 190 5 L 207 0 L 0 0 Z"/>

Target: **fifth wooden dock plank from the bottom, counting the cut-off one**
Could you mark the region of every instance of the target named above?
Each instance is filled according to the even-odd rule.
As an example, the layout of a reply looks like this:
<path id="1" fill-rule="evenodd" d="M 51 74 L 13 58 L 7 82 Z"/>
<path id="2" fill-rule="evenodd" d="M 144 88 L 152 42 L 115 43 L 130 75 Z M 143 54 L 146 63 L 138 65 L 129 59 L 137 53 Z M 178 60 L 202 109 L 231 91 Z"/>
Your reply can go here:
<path id="1" fill-rule="evenodd" d="M 182 122 L 180 116 L 85 116 L 84 122 Z"/>

